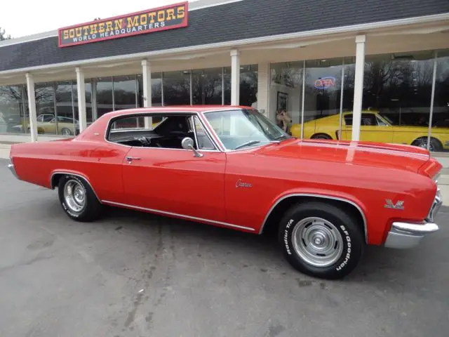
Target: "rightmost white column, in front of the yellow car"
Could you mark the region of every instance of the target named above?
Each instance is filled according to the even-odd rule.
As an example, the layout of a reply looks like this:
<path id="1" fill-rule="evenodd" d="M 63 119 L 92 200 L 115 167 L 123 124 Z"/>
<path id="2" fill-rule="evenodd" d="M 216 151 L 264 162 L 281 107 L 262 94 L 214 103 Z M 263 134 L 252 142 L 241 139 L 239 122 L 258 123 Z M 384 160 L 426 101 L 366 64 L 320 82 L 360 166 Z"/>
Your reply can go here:
<path id="1" fill-rule="evenodd" d="M 356 36 L 356 74 L 354 79 L 354 107 L 352 110 L 352 140 L 360 140 L 363 72 L 365 70 L 365 42 L 365 35 Z"/>

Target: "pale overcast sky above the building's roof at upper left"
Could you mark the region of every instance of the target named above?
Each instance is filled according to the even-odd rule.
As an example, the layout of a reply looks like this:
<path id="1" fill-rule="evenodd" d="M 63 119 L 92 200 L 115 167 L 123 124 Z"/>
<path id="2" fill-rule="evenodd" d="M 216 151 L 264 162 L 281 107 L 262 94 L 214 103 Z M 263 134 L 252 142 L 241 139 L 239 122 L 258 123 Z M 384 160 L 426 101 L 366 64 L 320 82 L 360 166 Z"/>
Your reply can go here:
<path id="1" fill-rule="evenodd" d="M 11 37 L 23 37 L 95 18 L 145 11 L 184 0 L 6 0 L 0 4 L 0 27 Z M 193 2 L 196 0 L 189 0 Z"/>

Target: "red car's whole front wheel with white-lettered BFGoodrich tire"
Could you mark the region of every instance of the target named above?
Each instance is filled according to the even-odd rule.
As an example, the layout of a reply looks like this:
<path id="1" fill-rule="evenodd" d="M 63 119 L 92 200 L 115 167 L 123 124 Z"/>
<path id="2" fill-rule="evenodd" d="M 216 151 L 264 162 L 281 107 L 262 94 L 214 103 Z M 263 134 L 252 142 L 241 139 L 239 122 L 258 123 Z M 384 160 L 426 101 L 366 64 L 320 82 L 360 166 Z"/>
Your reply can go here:
<path id="1" fill-rule="evenodd" d="M 279 225 L 279 242 L 288 262 L 323 279 L 340 279 L 354 270 L 363 252 L 363 237 L 354 216 L 320 201 L 293 206 Z"/>

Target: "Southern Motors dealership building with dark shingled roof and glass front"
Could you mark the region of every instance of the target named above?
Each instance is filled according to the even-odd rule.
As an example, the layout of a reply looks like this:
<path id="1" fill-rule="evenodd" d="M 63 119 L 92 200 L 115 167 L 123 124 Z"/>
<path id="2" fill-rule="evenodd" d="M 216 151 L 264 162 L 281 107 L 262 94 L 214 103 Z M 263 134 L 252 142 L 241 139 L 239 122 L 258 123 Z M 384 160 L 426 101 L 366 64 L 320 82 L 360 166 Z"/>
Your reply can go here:
<path id="1" fill-rule="evenodd" d="M 0 41 L 0 143 L 74 136 L 132 107 L 247 105 L 286 110 L 303 138 L 449 152 L 448 0 L 142 9 Z"/>

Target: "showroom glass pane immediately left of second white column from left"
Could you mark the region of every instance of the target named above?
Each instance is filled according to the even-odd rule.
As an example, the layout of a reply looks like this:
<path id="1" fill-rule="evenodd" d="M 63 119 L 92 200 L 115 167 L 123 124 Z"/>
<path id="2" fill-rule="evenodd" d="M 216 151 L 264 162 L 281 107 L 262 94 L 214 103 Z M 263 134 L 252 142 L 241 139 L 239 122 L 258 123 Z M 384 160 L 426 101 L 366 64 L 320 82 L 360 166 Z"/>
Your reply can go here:
<path id="1" fill-rule="evenodd" d="M 58 135 L 74 136 L 79 131 L 79 124 L 74 119 L 72 81 L 55 82 L 55 103 Z"/>

